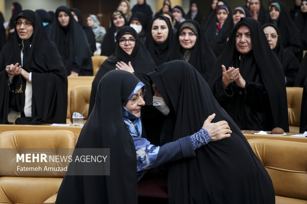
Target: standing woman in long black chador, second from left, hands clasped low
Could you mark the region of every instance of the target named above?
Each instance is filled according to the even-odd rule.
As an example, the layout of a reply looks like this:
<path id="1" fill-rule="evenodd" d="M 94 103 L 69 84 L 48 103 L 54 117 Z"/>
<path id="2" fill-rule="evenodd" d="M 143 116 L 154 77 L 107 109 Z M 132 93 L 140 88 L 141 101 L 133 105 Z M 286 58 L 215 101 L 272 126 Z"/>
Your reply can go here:
<path id="1" fill-rule="evenodd" d="M 93 76 L 92 51 L 87 38 L 66 6 L 56 9 L 49 39 L 62 56 L 67 76 Z"/>

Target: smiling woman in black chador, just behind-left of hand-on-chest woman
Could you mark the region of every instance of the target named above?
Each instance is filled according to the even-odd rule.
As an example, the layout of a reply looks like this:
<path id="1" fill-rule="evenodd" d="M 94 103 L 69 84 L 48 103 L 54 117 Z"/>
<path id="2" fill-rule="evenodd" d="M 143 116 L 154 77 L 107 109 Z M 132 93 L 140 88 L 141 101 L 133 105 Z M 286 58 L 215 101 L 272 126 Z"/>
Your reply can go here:
<path id="1" fill-rule="evenodd" d="M 121 11 L 112 13 L 111 27 L 107 30 L 102 41 L 102 52 L 100 55 L 110 56 L 115 52 L 117 31 L 127 24 L 125 15 Z"/>

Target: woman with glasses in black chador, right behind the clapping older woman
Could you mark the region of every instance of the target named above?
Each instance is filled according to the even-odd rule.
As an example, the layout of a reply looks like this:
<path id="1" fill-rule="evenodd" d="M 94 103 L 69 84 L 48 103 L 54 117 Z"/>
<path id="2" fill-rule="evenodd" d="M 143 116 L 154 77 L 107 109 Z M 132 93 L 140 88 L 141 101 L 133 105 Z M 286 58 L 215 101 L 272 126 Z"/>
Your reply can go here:
<path id="1" fill-rule="evenodd" d="M 262 28 L 271 49 L 283 68 L 286 86 L 293 86 L 300 68 L 299 61 L 290 50 L 284 49 L 279 30 L 274 24 L 265 24 Z"/>

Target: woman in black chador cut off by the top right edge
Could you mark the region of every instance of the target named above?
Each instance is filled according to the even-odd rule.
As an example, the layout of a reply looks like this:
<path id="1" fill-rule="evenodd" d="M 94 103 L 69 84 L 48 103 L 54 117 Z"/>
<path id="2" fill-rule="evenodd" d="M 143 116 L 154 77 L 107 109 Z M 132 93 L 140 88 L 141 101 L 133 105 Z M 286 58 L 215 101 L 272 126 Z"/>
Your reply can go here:
<path id="1" fill-rule="evenodd" d="M 307 50 L 307 0 L 302 0 L 301 11 L 294 23 L 300 31 L 303 50 Z"/>

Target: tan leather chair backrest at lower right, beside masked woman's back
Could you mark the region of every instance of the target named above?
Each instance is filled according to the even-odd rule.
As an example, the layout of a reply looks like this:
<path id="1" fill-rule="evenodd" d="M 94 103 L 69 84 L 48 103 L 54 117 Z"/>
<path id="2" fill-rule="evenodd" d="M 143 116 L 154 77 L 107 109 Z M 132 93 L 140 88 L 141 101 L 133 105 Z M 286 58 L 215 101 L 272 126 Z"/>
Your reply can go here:
<path id="1" fill-rule="evenodd" d="M 307 143 L 269 139 L 248 141 L 269 173 L 275 195 L 307 200 Z"/>

